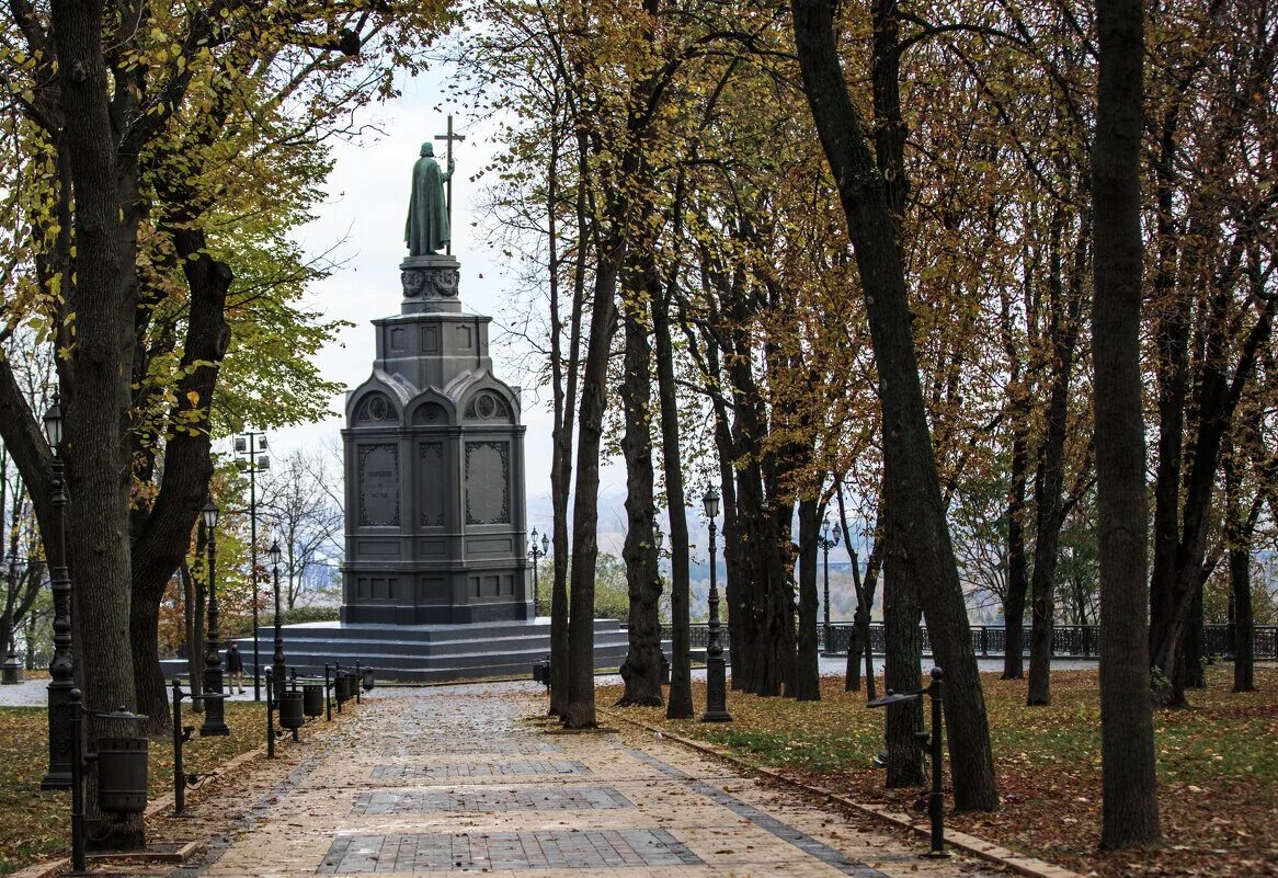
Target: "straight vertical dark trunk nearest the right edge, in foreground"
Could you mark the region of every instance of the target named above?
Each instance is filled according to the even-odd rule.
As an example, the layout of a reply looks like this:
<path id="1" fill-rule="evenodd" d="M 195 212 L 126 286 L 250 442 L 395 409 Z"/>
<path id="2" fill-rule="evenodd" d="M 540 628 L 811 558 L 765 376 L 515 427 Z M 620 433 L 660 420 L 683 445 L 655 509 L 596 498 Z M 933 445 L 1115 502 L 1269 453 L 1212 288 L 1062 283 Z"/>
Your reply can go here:
<path id="1" fill-rule="evenodd" d="M 1158 842 L 1149 691 L 1149 516 L 1141 418 L 1140 0 L 1097 0 L 1099 82 L 1091 150 L 1091 311 L 1100 555 L 1102 835 L 1105 849 Z"/>

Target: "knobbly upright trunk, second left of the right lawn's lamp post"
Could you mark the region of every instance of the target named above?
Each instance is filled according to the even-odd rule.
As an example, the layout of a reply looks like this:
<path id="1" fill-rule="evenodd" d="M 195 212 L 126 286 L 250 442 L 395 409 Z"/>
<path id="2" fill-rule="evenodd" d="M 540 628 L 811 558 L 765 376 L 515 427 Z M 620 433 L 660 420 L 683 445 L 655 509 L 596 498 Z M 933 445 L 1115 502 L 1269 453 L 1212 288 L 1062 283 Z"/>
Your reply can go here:
<path id="1" fill-rule="evenodd" d="M 631 290 L 638 294 L 638 290 Z M 635 295 L 634 298 L 639 298 Z M 627 305 L 629 308 L 630 305 Z M 635 305 L 638 307 L 638 305 Z M 626 636 L 625 693 L 617 704 L 659 705 L 661 699 L 661 576 L 653 544 L 652 477 L 652 345 L 640 316 L 627 312 L 625 326 L 625 374 L 621 404 L 625 435 L 621 452 L 626 461 L 626 539 L 621 555 L 626 562 L 630 617 Z"/>

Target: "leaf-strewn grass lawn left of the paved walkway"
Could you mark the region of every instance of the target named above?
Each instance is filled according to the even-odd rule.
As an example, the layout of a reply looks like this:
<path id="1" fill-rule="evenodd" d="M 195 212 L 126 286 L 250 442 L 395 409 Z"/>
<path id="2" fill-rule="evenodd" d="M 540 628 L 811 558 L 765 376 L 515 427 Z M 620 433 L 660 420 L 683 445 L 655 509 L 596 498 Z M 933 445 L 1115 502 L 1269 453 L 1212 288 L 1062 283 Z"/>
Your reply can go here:
<path id="1" fill-rule="evenodd" d="M 183 705 L 189 707 L 188 704 Z M 183 711 L 197 732 L 183 748 L 188 772 L 208 772 L 266 736 L 266 705 L 226 704 L 226 737 L 199 737 L 201 714 Z M 49 766 L 43 707 L 0 708 L 0 875 L 70 850 L 70 790 L 41 792 Z M 173 801 L 173 739 L 151 740 L 151 797 Z"/>

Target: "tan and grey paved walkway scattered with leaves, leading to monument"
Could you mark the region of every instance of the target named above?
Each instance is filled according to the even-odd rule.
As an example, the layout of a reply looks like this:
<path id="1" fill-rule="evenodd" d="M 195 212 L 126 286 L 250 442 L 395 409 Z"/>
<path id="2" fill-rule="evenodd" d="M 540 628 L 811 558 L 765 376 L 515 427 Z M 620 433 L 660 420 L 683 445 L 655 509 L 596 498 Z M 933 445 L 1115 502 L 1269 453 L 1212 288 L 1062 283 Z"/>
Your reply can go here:
<path id="1" fill-rule="evenodd" d="M 569 735 L 529 684 L 380 690 L 161 835 L 170 878 L 475 870 L 506 878 L 992 874 L 647 732 Z M 239 791 L 233 791 L 238 787 Z"/>

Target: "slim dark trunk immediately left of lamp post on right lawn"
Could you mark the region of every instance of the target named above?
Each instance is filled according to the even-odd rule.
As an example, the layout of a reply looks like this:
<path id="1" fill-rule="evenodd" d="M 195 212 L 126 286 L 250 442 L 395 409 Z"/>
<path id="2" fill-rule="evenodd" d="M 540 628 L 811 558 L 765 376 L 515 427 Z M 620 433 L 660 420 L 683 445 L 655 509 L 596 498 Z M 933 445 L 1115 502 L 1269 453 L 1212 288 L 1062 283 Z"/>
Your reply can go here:
<path id="1" fill-rule="evenodd" d="M 670 294 L 652 300 L 652 334 L 657 354 L 657 397 L 661 403 L 661 460 L 670 515 L 670 700 L 667 720 L 689 720 L 693 709 L 690 596 L 688 570 L 688 500 L 679 449 L 679 400 L 675 353 L 670 343 Z"/>

